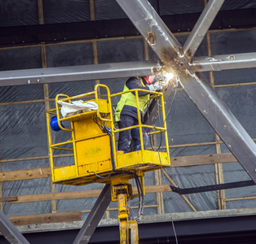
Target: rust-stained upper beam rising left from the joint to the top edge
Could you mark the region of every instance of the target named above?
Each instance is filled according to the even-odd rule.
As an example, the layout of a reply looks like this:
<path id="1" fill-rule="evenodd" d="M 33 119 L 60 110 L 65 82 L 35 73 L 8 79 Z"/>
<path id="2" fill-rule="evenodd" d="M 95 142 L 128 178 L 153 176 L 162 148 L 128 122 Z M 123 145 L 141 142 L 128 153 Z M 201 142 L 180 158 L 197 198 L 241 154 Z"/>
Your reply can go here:
<path id="1" fill-rule="evenodd" d="M 117 2 L 164 63 L 166 72 L 177 73 L 187 66 L 188 60 L 184 58 L 183 47 L 147 0 Z"/>

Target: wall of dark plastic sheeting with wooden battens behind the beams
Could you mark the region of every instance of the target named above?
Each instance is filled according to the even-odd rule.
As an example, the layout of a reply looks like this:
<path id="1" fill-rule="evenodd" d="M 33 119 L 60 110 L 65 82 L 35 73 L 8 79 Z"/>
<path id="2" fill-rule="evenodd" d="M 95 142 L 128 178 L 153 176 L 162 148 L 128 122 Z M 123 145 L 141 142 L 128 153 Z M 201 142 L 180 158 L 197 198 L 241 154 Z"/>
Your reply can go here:
<path id="1" fill-rule="evenodd" d="M 38 4 L 41 2 L 41 5 Z M 23 0 L 2 3 L 1 27 L 33 24 L 73 23 L 89 20 L 115 20 L 126 15 L 114 1 L 42 1 Z M 60 4 L 61 2 L 61 4 Z M 160 15 L 201 12 L 205 1 L 150 1 Z M 256 7 L 255 1 L 226 1 L 222 10 Z M 39 11 L 38 11 L 39 8 Z M 41 11 L 40 11 L 41 9 Z M 68 13 L 68 14 L 67 14 Z M 174 35 L 183 44 L 189 34 Z M 256 29 L 214 29 L 207 33 L 196 56 L 255 52 Z M 94 63 L 157 60 L 143 37 L 105 37 L 79 41 L 55 41 L 47 44 L 0 46 L 0 71 L 31 68 L 57 68 Z M 241 69 L 203 74 L 227 104 L 250 137 L 256 138 L 254 121 L 256 69 Z M 95 84 L 108 85 L 112 93 L 120 92 L 127 77 L 100 81 L 73 81 L 49 85 L 19 85 L 0 87 L 0 197 L 18 196 L 14 202 L 3 201 L 2 211 L 9 217 L 82 211 L 82 220 L 95 203 L 95 197 L 68 192 L 100 190 L 103 185 L 52 185 L 49 173 L 46 110 L 54 106 L 56 94 L 73 96 L 94 89 Z M 179 185 L 188 188 L 249 180 L 236 160 L 210 163 L 210 155 L 227 154 L 229 150 L 196 109 L 182 89 L 175 89 L 166 103 L 166 116 L 171 158 L 193 159 L 192 166 L 171 167 L 148 172 L 145 183 Z M 64 137 L 52 132 L 54 138 Z M 159 142 L 157 142 L 159 143 Z M 201 163 L 205 155 L 208 163 Z M 198 156 L 191 158 L 191 156 Z M 223 155 L 224 157 L 224 155 Z M 73 156 L 58 155 L 60 163 L 72 162 Z M 204 165 L 205 164 L 205 165 Z M 33 170 L 38 169 L 38 170 Z M 67 193 L 55 198 L 54 193 Z M 44 195 L 42 195 L 44 194 Z M 29 195 L 29 196 L 27 196 Z M 32 196 L 30 196 L 32 195 Z M 146 194 L 144 215 L 170 212 L 208 211 L 216 209 L 256 207 L 256 188 L 249 186 L 181 196 L 159 190 Z M 40 201 L 38 201 L 40 200 Z M 131 203 L 138 205 L 136 199 Z M 68 216 L 68 215 L 67 215 Z M 106 218 L 117 217 L 117 204 L 111 203 Z M 68 219 L 64 219 L 68 220 Z"/>

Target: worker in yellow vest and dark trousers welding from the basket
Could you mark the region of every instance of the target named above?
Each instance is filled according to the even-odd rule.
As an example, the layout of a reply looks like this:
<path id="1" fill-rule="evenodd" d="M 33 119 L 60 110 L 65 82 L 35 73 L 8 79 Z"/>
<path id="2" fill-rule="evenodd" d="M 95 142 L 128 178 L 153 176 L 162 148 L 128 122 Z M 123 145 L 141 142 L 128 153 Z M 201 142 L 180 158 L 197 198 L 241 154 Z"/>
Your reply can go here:
<path id="1" fill-rule="evenodd" d="M 157 81 L 154 84 L 155 76 L 136 76 L 130 77 L 125 84 L 123 91 L 129 89 L 146 89 L 150 91 L 158 91 L 162 89 L 162 82 Z M 143 118 L 143 112 L 149 102 L 149 93 L 139 91 L 139 111 L 140 117 Z M 127 128 L 139 124 L 136 96 L 135 92 L 122 94 L 120 101 L 117 103 L 115 122 L 119 129 Z M 139 128 L 121 131 L 118 139 L 118 150 L 123 150 L 124 153 L 130 152 L 132 139 L 135 142 L 134 150 L 141 150 Z"/>

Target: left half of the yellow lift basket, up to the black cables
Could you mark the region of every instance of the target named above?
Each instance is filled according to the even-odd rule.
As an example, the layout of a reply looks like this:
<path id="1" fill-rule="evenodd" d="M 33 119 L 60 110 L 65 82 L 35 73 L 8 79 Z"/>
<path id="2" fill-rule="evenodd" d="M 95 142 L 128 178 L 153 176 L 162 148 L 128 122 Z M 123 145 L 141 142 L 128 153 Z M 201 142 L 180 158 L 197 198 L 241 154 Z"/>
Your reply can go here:
<path id="1" fill-rule="evenodd" d="M 81 185 L 81 181 L 77 183 L 76 181 L 70 180 L 79 180 L 80 176 L 90 176 L 93 172 L 95 173 L 104 173 L 112 170 L 112 162 L 110 156 L 110 140 L 108 134 L 103 133 L 101 129 L 99 129 L 98 124 L 95 123 L 94 120 L 98 120 L 100 124 L 102 120 L 104 120 L 104 124 L 107 127 L 111 126 L 112 121 L 112 108 L 109 98 L 109 90 L 105 85 L 104 88 L 108 91 L 108 101 L 106 99 L 99 99 L 97 94 L 98 86 L 95 86 L 95 91 L 87 94 L 81 94 L 74 97 L 68 97 L 65 94 L 58 94 L 55 98 L 55 109 L 51 109 L 47 111 L 47 124 L 48 124 L 48 137 L 49 137 L 49 148 L 50 148 L 50 159 L 51 159 L 51 170 L 52 170 L 52 180 L 55 183 L 64 184 L 66 181 L 67 184 L 71 185 Z M 98 104 L 97 111 L 89 111 L 82 114 L 77 114 L 73 116 L 69 116 L 67 118 L 61 117 L 60 115 L 60 107 L 59 107 L 59 99 L 63 102 L 71 102 L 73 99 L 78 98 L 86 98 L 90 95 L 95 95 L 95 99 L 89 100 L 94 101 Z M 87 101 L 86 101 L 87 102 Z M 67 142 L 58 142 L 55 144 L 51 143 L 51 129 L 50 129 L 50 116 L 56 115 L 58 118 L 58 123 L 60 129 L 71 131 L 72 138 Z M 100 119 L 99 119 L 100 117 Z M 65 129 L 60 121 L 69 121 L 71 124 L 71 129 Z M 66 149 L 64 146 L 68 143 L 73 144 L 73 149 Z M 70 166 L 64 166 L 61 168 L 55 168 L 53 163 L 53 149 L 60 150 L 73 150 L 74 151 L 74 159 L 75 164 Z M 88 180 L 84 179 L 84 184 L 91 183 Z"/>

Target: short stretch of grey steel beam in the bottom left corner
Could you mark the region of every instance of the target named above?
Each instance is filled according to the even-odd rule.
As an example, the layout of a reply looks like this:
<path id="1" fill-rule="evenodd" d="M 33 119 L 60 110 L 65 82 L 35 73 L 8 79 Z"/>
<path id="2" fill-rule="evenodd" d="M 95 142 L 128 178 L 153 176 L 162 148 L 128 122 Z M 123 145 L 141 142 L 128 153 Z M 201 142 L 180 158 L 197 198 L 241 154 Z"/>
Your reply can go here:
<path id="1" fill-rule="evenodd" d="M 29 244 L 27 239 L 20 231 L 11 223 L 11 220 L 0 211 L 0 232 L 11 244 Z"/>

